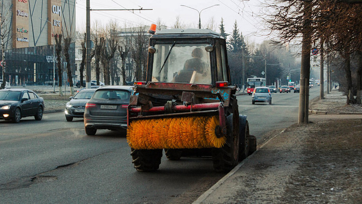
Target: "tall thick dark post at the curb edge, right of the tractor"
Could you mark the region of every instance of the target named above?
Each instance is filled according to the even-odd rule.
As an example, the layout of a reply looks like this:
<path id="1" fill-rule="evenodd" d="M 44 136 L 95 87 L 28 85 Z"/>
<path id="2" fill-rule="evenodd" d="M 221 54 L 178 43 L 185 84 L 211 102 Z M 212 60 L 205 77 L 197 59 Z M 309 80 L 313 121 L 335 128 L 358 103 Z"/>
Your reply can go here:
<path id="1" fill-rule="evenodd" d="M 310 50 L 311 50 L 311 2 L 304 2 L 303 11 L 303 38 L 302 38 L 302 60 L 299 94 L 298 123 L 308 123 L 309 109 L 309 75 L 310 75 Z"/>

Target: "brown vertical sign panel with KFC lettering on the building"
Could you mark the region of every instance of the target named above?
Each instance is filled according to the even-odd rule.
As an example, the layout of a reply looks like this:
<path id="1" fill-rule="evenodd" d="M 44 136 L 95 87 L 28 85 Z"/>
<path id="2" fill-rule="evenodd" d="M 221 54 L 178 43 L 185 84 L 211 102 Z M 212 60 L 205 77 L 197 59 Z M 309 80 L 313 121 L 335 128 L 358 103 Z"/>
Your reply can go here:
<path id="1" fill-rule="evenodd" d="M 54 44 L 54 34 L 61 34 L 62 29 L 62 8 L 60 0 L 48 0 L 48 44 Z"/>

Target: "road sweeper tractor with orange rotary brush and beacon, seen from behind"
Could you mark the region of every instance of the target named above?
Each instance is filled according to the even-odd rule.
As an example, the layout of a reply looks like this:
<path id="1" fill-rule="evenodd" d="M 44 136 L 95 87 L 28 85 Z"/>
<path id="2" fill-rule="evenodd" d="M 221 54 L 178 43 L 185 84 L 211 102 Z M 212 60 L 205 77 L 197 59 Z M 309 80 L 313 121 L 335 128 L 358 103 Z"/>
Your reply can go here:
<path id="1" fill-rule="evenodd" d="M 167 29 L 150 37 L 145 82 L 135 82 L 128 106 L 127 142 L 138 171 L 168 159 L 212 156 L 230 171 L 255 150 L 230 84 L 226 42 L 207 29 Z"/>

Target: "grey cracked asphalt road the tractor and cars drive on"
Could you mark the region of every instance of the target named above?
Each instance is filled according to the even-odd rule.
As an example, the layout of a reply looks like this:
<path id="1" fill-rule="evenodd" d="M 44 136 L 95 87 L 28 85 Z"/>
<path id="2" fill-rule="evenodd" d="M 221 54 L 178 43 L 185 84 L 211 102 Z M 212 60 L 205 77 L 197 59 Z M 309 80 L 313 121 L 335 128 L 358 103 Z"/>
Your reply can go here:
<path id="1" fill-rule="evenodd" d="M 273 94 L 272 105 L 252 105 L 248 95 L 237 99 L 259 140 L 297 122 L 297 93 Z M 41 121 L 0 120 L 0 203 L 188 203 L 224 175 L 214 172 L 211 158 L 165 156 L 158 171 L 137 172 L 124 132 L 99 130 L 89 137 L 82 119 L 66 122 L 63 113 Z"/>

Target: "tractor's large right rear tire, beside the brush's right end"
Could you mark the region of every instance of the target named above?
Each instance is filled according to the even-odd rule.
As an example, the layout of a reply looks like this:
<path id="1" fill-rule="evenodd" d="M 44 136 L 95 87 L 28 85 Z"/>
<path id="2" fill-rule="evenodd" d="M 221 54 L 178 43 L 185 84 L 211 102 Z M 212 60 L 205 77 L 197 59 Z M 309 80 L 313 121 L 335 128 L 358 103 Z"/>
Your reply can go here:
<path id="1" fill-rule="evenodd" d="M 229 172 L 239 161 L 239 116 L 235 114 L 227 116 L 226 127 L 226 144 L 222 148 L 214 148 L 212 151 L 216 172 Z"/>

